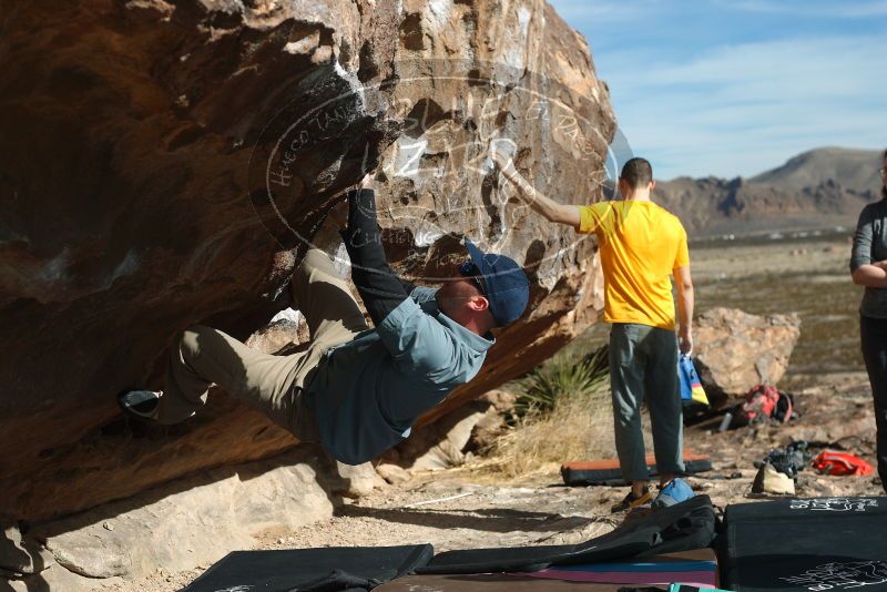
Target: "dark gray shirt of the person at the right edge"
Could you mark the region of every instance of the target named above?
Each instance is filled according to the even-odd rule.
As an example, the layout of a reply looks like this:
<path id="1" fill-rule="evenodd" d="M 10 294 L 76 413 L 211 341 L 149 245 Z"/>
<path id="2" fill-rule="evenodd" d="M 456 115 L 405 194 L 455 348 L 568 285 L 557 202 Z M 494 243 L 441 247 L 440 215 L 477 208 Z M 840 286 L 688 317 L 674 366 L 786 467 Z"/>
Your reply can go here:
<path id="1" fill-rule="evenodd" d="M 859 213 L 850 254 L 850 273 L 861 265 L 887 261 L 887 198 L 868 204 Z M 864 317 L 887 318 L 887 288 L 866 286 L 859 314 Z"/>

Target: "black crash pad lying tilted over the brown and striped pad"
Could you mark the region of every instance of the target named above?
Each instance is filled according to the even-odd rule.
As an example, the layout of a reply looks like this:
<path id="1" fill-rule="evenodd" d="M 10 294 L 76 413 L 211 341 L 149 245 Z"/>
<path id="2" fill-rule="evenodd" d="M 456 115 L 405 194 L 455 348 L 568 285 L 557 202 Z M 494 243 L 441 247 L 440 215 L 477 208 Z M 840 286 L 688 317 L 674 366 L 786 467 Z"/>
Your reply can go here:
<path id="1" fill-rule="evenodd" d="M 511 573 L 550 565 L 594 563 L 646 553 L 691 551 L 711 545 L 714 510 L 707 496 L 626 520 L 616 530 L 579 544 L 468 549 L 435 555 L 416 573 Z"/>

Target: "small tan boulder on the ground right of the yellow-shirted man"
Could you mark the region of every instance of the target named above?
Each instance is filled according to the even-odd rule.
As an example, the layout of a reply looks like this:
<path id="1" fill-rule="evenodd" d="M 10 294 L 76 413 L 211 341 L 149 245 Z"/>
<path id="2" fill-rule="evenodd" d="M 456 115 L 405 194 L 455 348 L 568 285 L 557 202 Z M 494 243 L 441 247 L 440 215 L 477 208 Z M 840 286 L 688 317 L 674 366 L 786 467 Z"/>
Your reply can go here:
<path id="1" fill-rule="evenodd" d="M 763 317 L 712 308 L 694 321 L 693 359 L 706 391 L 745 395 L 755 385 L 782 379 L 798 337 L 796 313 Z"/>

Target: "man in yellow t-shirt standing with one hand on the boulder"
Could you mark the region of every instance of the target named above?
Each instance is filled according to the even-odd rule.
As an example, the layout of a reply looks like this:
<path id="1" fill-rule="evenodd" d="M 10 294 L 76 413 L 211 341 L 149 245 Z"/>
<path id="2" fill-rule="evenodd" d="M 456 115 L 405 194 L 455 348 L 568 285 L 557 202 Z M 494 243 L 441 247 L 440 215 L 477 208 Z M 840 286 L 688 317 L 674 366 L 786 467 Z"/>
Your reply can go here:
<path id="1" fill-rule="evenodd" d="M 650 200 L 655 185 L 653 167 L 644 159 L 630 160 L 619 178 L 622 200 L 577 206 L 559 204 L 537 192 L 503 154 L 493 154 L 493 162 L 533 210 L 598 237 L 604 277 L 603 319 L 612 325 L 610 382 L 616 451 L 622 474 L 632 486 L 613 511 L 652 500 L 641 430 L 644 399 L 660 473 L 653 507 L 693 497 L 686 482 L 675 478 L 684 472 L 677 351 L 689 355 L 693 349 L 693 282 L 684 227 Z M 672 275 L 677 288 L 677 338 Z"/>

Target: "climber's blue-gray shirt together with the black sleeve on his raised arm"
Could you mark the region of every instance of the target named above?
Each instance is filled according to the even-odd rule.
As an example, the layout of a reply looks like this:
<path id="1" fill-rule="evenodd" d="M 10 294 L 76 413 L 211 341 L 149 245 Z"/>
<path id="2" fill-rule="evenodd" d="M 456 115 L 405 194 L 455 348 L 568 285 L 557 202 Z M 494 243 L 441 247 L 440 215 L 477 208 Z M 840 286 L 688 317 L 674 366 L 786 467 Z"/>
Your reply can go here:
<path id="1" fill-rule="evenodd" d="M 437 290 L 395 276 L 371 190 L 349 193 L 348 204 L 343 238 L 376 328 L 327 351 L 306 395 L 324 448 L 359 465 L 406 438 L 421 414 L 471 380 L 493 340 L 438 310 Z"/>

